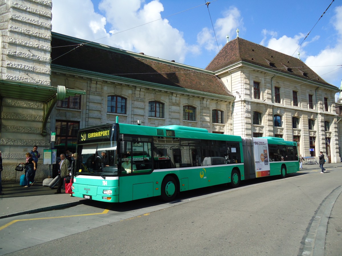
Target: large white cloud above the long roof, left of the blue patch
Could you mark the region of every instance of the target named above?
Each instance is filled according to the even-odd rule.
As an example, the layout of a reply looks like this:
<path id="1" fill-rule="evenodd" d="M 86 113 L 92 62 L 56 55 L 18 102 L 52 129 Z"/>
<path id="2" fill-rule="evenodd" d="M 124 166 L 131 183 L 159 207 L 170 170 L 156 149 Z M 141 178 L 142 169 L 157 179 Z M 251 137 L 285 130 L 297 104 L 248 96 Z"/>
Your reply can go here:
<path id="1" fill-rule="evenodd" d="M 91 0 L 54 2 L 53 31 L 181 63 L 189 51 L 198 52 L 161 18 L 164 8 L 159 0 L 103 0 L 98 8 L 104 16 L 95 13 Z"/>

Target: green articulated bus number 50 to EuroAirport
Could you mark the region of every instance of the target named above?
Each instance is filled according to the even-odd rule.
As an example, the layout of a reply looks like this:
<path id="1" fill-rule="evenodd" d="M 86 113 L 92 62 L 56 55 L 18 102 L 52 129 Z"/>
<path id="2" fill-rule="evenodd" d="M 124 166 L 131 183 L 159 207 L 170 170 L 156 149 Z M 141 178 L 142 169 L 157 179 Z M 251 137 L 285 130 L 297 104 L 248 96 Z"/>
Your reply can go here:
<path id="1" fill-rule="evenodd" d="M 73 195 L 105 202 L 181 191 L 299 171 L 297 143 L 244 138 L 179 125 L 109 124 L 79 130 Z"/>

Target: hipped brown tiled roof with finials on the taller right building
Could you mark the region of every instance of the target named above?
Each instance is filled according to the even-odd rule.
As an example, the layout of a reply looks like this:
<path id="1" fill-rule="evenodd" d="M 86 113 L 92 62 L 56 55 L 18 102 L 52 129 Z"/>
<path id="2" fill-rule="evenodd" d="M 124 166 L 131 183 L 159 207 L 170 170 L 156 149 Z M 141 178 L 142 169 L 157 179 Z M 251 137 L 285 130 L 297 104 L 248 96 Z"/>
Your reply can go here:
<path id="1" fill-rule="evenodd" d="M 239 37 L 226 43 L 206 69 L 219 71 L 240 61 L 248 62 L 261 68 L 273 69 L 276 72 L 290 74 L 316 83 L 333 86 L 324 81 L 300 59 Z"/>

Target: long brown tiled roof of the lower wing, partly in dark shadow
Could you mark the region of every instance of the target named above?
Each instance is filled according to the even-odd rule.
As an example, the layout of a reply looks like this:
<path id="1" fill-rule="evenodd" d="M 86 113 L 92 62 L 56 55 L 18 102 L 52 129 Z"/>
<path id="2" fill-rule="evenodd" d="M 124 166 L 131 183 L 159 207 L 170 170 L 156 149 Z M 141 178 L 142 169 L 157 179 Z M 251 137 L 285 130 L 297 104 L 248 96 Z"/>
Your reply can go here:
<path id="1" fill-rule="evenodd" d="M 97 43 L 84 44 L 74 49 L 75 45 L 82 42 L 87 43 L 81 39 L 52 33 L 52 64 L 155 83 L 161 86 L 168 85 L 234 97 L 213 72 Z"/>

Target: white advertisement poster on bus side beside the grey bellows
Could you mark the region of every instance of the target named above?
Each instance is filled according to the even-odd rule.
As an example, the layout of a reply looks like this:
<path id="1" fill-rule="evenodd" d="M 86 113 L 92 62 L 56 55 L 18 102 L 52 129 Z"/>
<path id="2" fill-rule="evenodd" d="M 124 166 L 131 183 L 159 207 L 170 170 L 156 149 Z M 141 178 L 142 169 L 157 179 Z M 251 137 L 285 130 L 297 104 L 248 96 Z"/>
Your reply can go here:
<path id="1" fill-rule="evenodd" d="M 256 177 L 269 176 L 267 139 L 253 138 Z"/>

